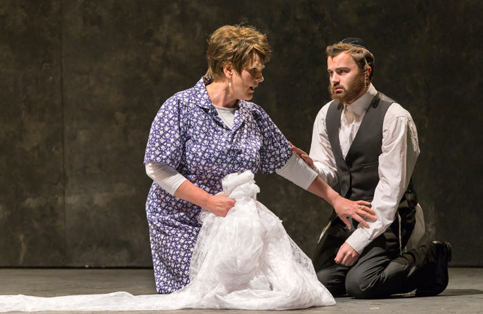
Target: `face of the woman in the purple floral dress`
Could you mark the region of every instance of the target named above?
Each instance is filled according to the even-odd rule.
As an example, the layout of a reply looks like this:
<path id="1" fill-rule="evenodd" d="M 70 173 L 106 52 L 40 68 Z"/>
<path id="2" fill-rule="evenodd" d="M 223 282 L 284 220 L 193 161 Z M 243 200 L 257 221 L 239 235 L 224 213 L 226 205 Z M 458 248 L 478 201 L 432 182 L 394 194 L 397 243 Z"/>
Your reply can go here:
<path id="1" fill-rule="evenodd" d="M 264 81 L 262 70 L 265 68 L 260 57 L 255 53 L 242 68 L 242 73 L 233 71 L 231 91 L 236 99 L 250 100 L 255 88 Z"/>

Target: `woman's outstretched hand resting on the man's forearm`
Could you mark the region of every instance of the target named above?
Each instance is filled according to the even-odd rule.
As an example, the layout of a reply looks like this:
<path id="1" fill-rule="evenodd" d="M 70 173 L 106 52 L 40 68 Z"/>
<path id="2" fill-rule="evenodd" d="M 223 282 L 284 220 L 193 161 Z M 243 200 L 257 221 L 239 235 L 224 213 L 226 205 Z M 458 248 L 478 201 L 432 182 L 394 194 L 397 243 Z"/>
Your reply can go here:
<path id="1" fill-rule="evenodd" d="M 371 205 L 371 203 L 366 201 L 353 202 L 349 199 L 344 199 L 344 197 L 340 195 L 338 195 L 337 199 L 335 199 L 332 204 L 337 216 L 342 220 L 342 222 L 344 222 L 344 224 L 346 224 L 347 228 L 349 229 L 351 229 L 351 224 L 349 223 L 347 217 L 357 220 L 357 222 L 366 228 L 369 228 L 369 225 L 364 219 L 377 219 L 375 215 L 373 215 L 374 210 L 364 205 Z"/>

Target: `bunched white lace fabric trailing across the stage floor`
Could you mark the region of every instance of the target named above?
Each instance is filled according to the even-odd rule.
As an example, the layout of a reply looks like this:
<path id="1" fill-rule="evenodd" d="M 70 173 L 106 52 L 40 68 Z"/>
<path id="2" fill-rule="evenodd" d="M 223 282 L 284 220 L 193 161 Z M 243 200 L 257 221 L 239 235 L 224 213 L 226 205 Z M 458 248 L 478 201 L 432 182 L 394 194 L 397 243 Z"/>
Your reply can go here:
<path id="1" fill-rule="evenodd" d="M 153 311 L 179 308 L 285 310 L 335 304 L 317 280 L 311 260 L 282 222 L 256 201 L 253 173 L 233 173 L 223 190 L 235 199 L 224 218 L 204 210 L 190 264 L 190 284 L 170 295 L 32 297 L 0 295 L 8 311 Z"/>

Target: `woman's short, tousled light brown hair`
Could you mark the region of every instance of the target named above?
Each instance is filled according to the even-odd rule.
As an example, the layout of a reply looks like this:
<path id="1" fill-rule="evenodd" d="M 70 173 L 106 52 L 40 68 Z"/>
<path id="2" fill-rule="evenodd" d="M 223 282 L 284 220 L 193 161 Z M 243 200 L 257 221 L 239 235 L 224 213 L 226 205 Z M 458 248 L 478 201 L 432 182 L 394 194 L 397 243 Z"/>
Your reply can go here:
<path id="1" fill-rule="evenodd" d="M 206 76 L 215 81 L 221 79 L 223 67 L 230 62 L 235 71 L 240 74 L 254 53 L 264 63 L 270 60 L 272 50 L 265 35 L 253 26 L 221 26 L 208 39 Z"/>

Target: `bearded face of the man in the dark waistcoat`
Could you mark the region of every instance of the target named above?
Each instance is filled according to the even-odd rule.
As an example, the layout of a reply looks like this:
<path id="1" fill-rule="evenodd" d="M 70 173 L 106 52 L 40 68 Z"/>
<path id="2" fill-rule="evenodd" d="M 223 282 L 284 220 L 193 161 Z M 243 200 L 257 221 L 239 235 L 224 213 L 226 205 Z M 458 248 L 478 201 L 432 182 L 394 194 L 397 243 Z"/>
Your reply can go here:
<path id="1" fill-rule="evenodd" d="M 332 99 L 342 104 L 352 104 L 364 95 L 364 73 L 347 52 L 327 58 L 327 72 L 330 79 L 328 91 Z"/>

